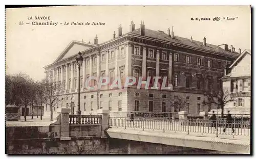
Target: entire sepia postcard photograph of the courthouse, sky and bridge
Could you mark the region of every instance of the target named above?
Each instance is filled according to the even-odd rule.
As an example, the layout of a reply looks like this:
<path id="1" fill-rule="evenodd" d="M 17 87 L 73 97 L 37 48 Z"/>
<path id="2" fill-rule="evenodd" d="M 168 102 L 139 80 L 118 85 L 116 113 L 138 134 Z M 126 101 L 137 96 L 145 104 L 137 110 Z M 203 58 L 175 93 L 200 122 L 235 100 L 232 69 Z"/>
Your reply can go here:
<path id="1" fill-rule="evenodd" d="M 251 154 L 251 6 L 5 9 L 6 154 Z"/>

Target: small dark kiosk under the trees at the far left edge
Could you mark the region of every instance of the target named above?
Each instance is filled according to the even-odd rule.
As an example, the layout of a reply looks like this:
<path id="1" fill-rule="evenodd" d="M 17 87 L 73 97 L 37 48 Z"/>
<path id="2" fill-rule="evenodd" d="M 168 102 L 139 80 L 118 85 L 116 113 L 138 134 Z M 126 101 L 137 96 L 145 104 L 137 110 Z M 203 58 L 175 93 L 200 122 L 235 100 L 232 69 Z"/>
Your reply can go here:
<path id="1" fill-rule="evenodd" d="M 6 121 L 18 121 L 20 120 L 19 107 L 15 104 L 8 104 L 5 107 L 5 119 Z"/>

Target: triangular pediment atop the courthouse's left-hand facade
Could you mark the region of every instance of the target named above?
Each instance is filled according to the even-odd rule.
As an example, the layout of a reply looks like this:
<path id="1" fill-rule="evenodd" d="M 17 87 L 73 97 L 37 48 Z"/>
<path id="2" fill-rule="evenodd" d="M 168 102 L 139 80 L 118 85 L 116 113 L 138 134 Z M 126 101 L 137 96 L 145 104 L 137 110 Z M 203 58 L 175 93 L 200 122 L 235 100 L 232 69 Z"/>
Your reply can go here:
<path id="1" fill-rule="evenodd" d="M 54 63 L 63 59 L 67 59 L 71 56 L 78 54 L 79 51 L 84 51 L 94 46 L 95 44 L 84 43 L 80 41 L 71 41 L 69 45 L 61 52 L 59 57 L 54 61 Z"/>

